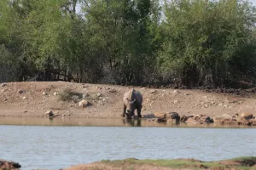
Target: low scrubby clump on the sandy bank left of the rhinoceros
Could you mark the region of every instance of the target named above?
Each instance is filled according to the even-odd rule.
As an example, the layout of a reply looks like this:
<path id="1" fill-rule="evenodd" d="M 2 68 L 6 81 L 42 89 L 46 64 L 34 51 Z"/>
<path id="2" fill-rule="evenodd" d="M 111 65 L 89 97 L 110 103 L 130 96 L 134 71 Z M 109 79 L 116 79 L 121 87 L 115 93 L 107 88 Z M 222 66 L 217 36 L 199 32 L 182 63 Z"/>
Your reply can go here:
<path id="1" fill-rule="evenodd" d="M 72 89 L 70 88 L 66 88 L 64 89 L 60 94 L 59 94 L 59 99 L 62 101 L 75 101 L 78 99 L 82 99 L 83 98 L 83 94 L 78 93 L 78 92 L 74 92 Z"/>

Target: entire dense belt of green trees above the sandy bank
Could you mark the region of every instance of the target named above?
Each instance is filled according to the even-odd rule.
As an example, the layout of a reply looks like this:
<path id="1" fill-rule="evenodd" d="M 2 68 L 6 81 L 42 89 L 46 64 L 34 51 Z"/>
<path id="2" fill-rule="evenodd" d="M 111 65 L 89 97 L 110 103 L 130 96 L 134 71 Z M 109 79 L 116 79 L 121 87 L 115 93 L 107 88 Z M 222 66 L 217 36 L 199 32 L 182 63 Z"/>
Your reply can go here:
<path id="1" fill-rule="evenodd" d="M 255 82 L 245 0 L 1 0 L 0 82 Z"/>

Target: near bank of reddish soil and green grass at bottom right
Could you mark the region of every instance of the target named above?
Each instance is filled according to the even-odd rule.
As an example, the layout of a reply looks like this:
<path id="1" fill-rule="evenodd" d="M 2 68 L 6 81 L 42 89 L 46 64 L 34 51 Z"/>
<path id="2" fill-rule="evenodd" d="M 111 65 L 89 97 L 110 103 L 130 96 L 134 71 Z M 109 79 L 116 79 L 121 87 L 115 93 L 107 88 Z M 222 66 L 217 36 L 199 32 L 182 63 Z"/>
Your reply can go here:
<path id="1" fill-rule="evenodd" d="M 241 157 L 224 161 L 198 161 L 195 159 L 99 161 L 86 165 L 68 167 L 64 170 L 176 170 L 176 169 L 256 169 L 256 157 Z"/>

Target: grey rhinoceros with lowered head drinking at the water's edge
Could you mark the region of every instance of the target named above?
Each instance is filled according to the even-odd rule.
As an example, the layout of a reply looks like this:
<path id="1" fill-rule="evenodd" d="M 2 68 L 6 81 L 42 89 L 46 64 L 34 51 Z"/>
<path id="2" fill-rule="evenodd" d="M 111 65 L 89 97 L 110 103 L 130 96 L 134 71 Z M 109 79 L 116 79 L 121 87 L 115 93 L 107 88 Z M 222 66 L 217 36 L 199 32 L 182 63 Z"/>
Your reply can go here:
<path id="1" fill-rule="evenodd" d="M 143 107 L 143 95 L 133 88 L 124 94 L 124 111 L 122 116 L 131 118 L 134 116 L 134 111 L 137 109 L 137 116 L 142 118 L 141 111 Z"/>

